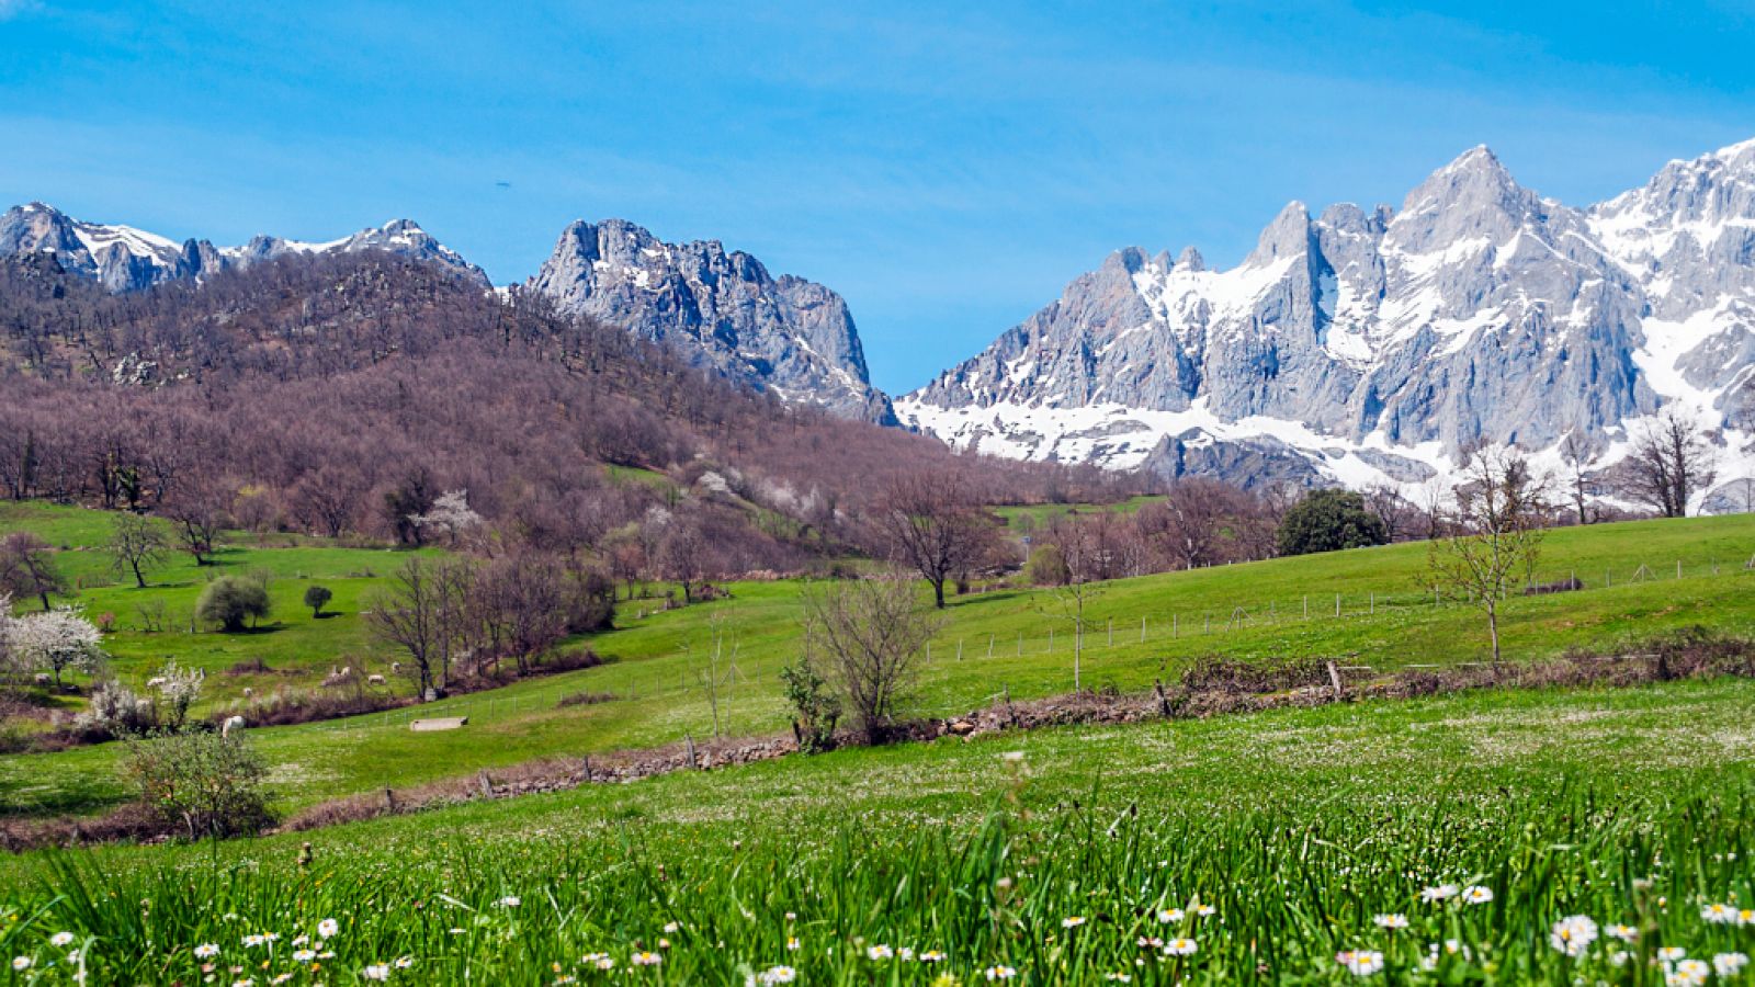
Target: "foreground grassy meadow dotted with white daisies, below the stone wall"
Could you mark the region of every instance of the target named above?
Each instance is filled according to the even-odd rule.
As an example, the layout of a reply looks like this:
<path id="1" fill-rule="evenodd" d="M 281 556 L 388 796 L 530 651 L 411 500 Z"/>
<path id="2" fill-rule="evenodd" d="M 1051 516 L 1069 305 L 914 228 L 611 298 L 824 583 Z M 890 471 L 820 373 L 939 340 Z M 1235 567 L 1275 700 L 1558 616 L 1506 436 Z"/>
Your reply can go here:
<path id="1" fill-rule="evenodd" d="M 774 964 L 839 985 L 985 983 L 988 966 L 1014 983 L 1346 983 L 1336 952 L 1365 948 L 1388 962 L 1365 982 L 1660 983 L 1660 947 L 1755 948 L 1755 927 L 1701 919 L 1755 901 L 1751 704 L 1755 683 L 1730 680 L 1476 692 L 848 750 L 219 847 L 33 854 L 0 861 L 0 959 L 65 983 L 74 968 L 47 940 L 68 931 L 102 983 L 202 982 L 198 943 L 219 945 L 218 982 L 256 983 L 351 983 L 397 957 L 400 983 L 742 983 Z M 1420 903 L 1439 882 L 1494 899 Z M 1214 915 L 1157 915 L 1193 901 Z M 1378 913 L 1409 927 L 1379 929 Z M 1639 941 L 1567 959 L 1548 929 L 1574 913 Z M 291 940 L 323 919 L 340 931 L 312 971 Z M 242 943 L 260 933 L 281 938 Z M 1141 936 L 1197 950 L 1164 957 Z M 1458 952 L 1422 971 L 1444 940 Z M 946 959 L 867 959 L 876 945 Z M 1611 947 L 1632 959 L 1615 966 Z M 630 971 L 642 948 L 662 966 Z M 583 966 L 588 952 L 616 973 Z"/>

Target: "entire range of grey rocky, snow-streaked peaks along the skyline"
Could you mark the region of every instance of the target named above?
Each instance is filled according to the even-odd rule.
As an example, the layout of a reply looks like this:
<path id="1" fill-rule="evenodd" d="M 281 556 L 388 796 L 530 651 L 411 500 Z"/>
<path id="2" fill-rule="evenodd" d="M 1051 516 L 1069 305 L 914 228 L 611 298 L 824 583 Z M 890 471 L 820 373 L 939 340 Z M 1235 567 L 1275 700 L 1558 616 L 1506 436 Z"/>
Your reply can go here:
<path id="1" fill-rule="evenodd" d="M 0 216 L 0 255 L 51 251 L 112 292 L 360 249 L 488 286 L 407 220 L 214 248 L 44 204 Z M 1028 460 L 1406 490 L 1483 439 L 1553 464 L 1574 436 L 1608 469 L 1665 407 L 1711 429 L 1723 479 L 1751 474 L 1755 451 L 1755 140 L 1588 207 L 1474 148 L 1399 207 L 1292 202 L 1230 269 L 1118 249 L 893 406 L 835 292 L 718 241 L 577 221 L 518 290 L 786 400 Z"/>

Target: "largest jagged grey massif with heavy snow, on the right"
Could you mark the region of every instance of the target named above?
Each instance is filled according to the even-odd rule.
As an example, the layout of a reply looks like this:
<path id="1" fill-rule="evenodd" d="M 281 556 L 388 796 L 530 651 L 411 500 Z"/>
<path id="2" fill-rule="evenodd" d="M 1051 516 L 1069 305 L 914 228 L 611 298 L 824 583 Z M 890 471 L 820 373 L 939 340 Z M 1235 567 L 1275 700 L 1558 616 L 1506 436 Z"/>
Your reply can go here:
<path id="1" fill-rule="evenodd" d="M 1230 270 L 1111 255 L 897 400 L 956 446 L 1246 483 L 1448 472 L 1486 439 L 1595 465 L 1681 404 L 1755 443 L 1755 140 L 1574 209 L 1474 148 L 1400 209 L 1293 202 Z"/>

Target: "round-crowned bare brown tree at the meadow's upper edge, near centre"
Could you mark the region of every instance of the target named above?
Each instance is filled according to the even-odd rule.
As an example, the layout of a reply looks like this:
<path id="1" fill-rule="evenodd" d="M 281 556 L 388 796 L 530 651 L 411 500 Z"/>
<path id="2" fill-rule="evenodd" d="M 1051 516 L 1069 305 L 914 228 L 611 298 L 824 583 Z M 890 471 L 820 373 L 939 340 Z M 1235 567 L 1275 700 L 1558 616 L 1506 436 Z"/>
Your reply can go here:
<path id="1" fill-rule="evenodd" d="M 876 527 L 890 557 L 932 583 L 939 609 L 944 581 L 992 553 L 993 525 L 969 485 L 955 476 L 899 478 L 876 508 Z"/>

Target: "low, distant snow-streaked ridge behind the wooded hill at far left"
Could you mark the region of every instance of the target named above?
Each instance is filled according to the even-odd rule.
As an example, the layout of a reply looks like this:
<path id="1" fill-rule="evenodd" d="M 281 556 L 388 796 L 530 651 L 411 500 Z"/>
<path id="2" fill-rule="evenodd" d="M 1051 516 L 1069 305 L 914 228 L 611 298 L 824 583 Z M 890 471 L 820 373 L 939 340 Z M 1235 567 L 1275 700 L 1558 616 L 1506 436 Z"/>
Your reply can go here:
<path id="1" fill-rule="evenodd" d="M 53 253 L 65 270 L 91 277 L 111 292 L 139 292 L 165 281 L 198 281 L 230 267 L 288 253 L 362 249 L 444 263 L 483 286 L 488 285 L 488 276 L 479 267 L 411 220 L 393 220 L 328 242 L 254 237 L 244 246 L 216 248 L 209 241 L 190 239 L 179 244 L 133 227 L 86 223 L 42 202 L 14 205 L 0 214 L 0 255 Z"/>

